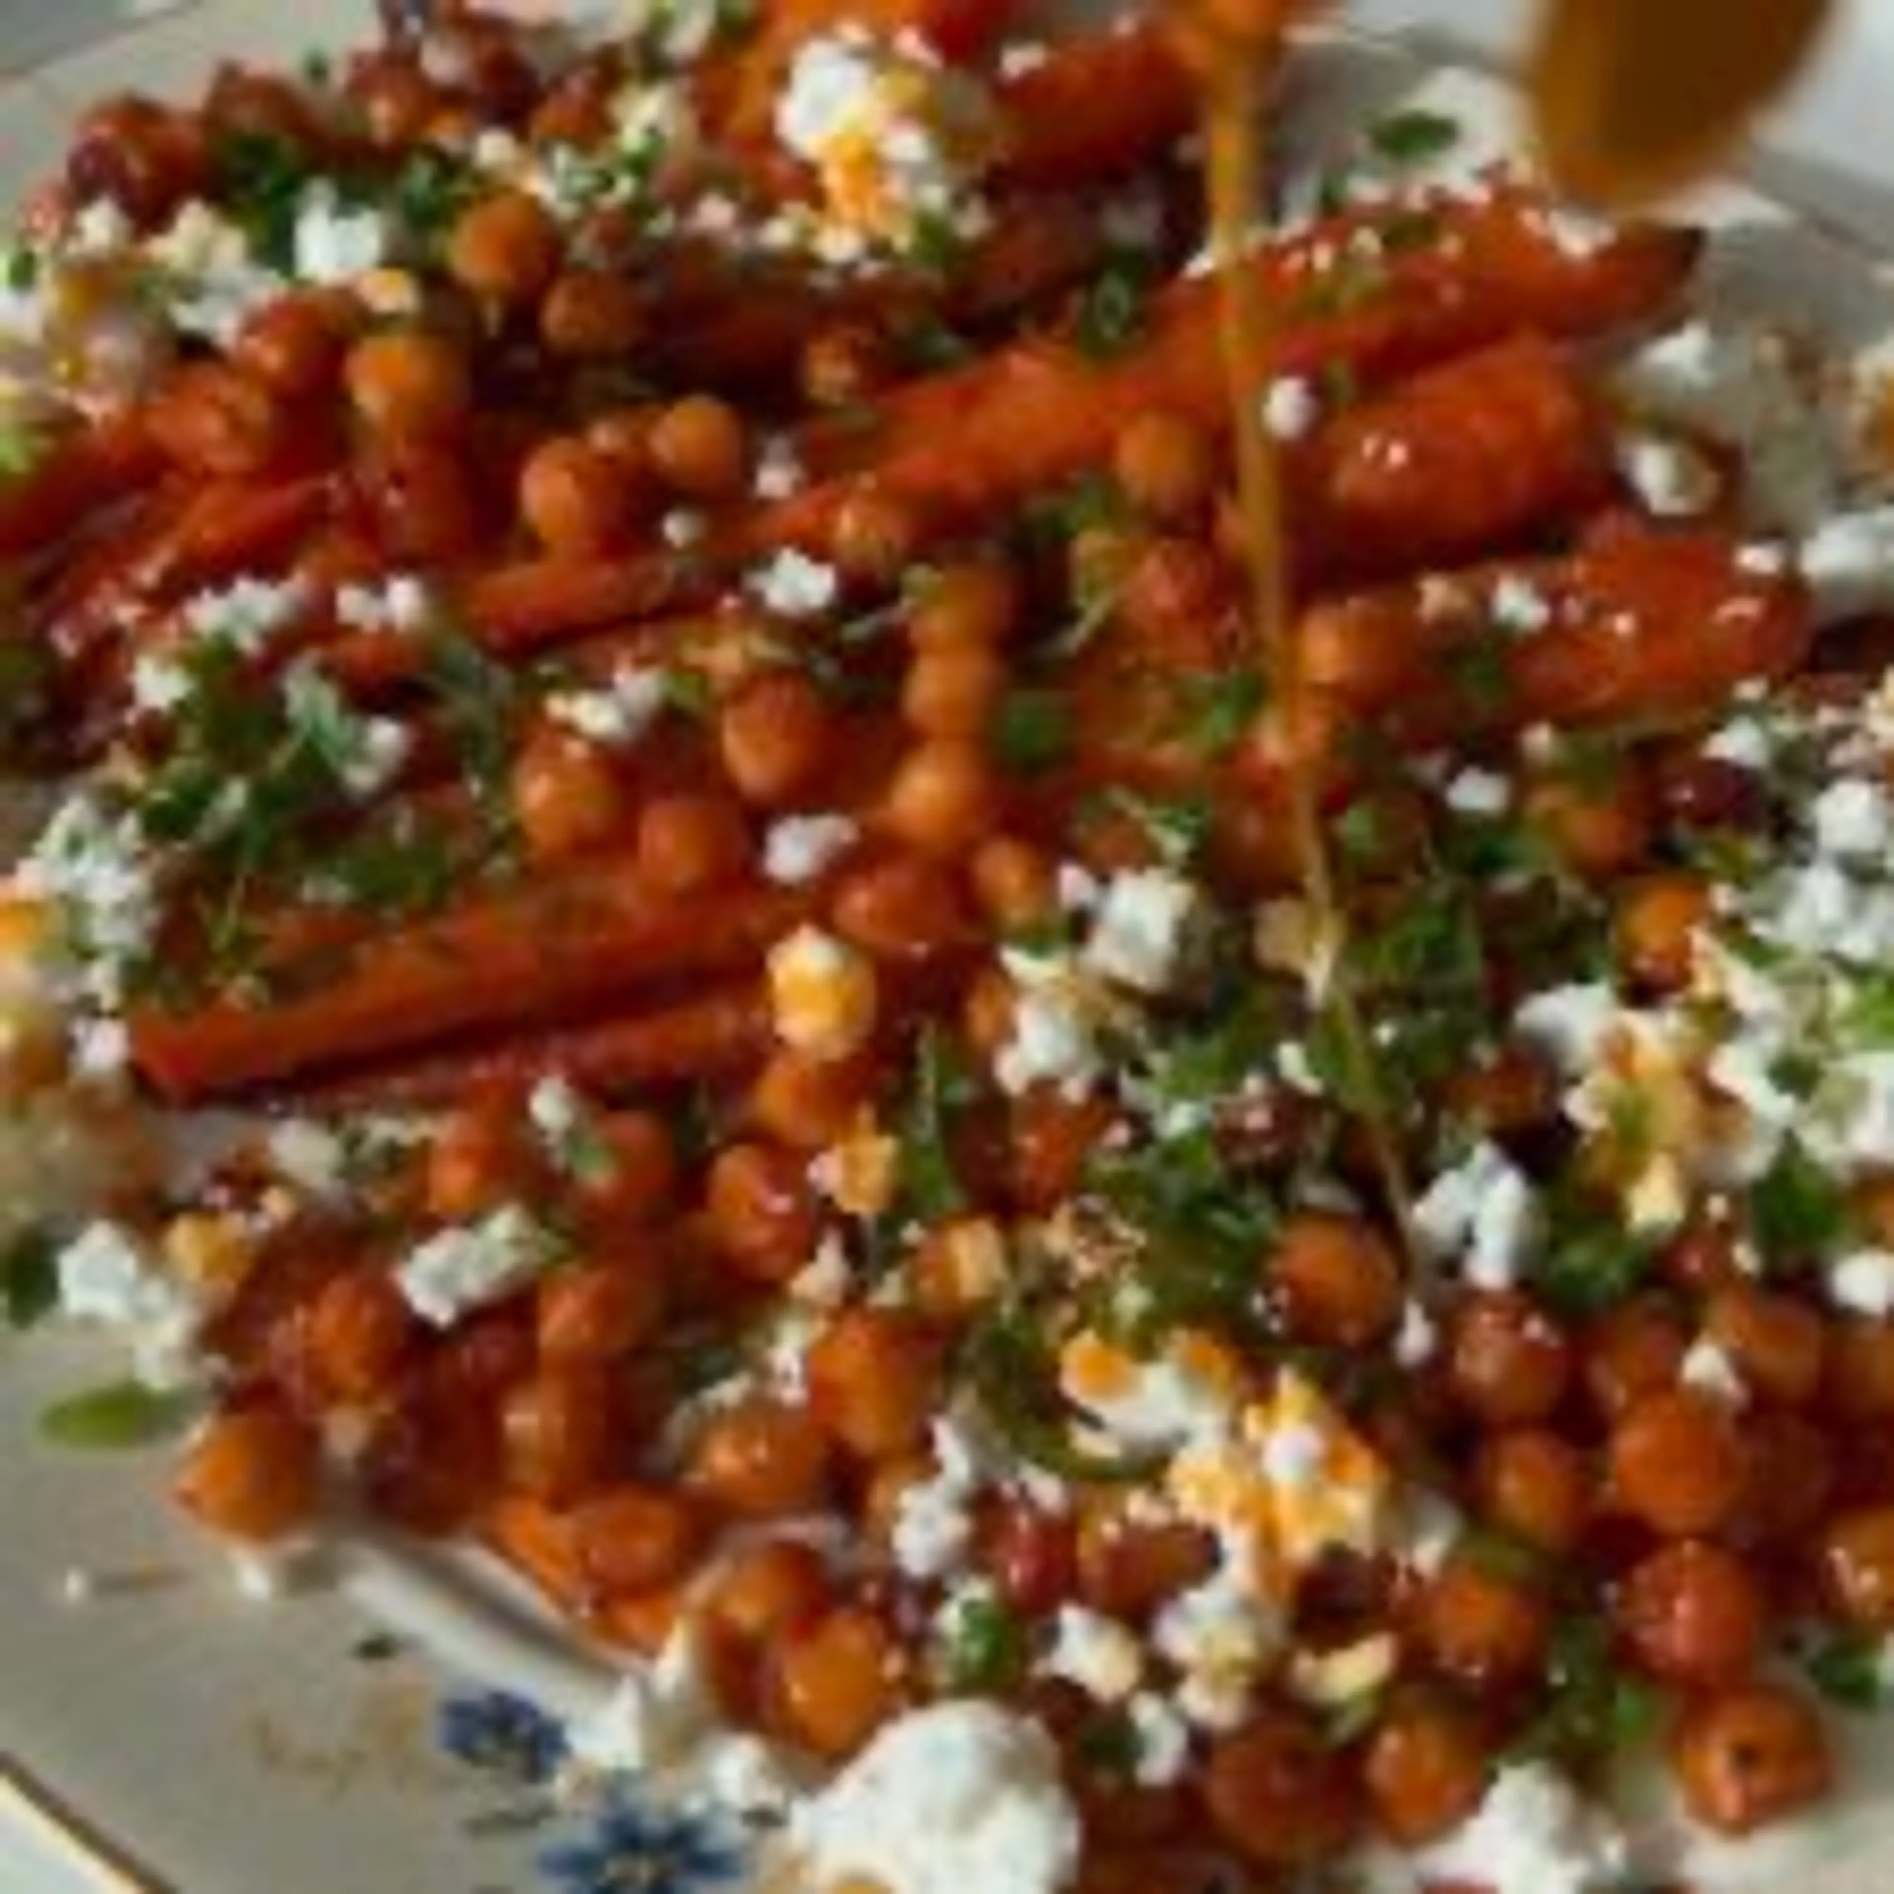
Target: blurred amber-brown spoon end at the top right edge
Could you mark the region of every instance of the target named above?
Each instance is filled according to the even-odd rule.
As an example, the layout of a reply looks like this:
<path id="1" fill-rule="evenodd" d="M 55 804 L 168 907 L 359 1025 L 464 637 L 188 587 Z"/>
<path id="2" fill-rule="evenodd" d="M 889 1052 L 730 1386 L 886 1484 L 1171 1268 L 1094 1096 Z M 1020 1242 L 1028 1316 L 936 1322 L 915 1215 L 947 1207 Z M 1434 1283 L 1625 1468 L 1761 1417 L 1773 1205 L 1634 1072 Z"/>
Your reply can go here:
<path id="1" fill-rule="evenodd" d="M 1561 191 L 1606 210 L 1714 170 L 1835 0 L 1547 0 L 1530 81 Z"/>

